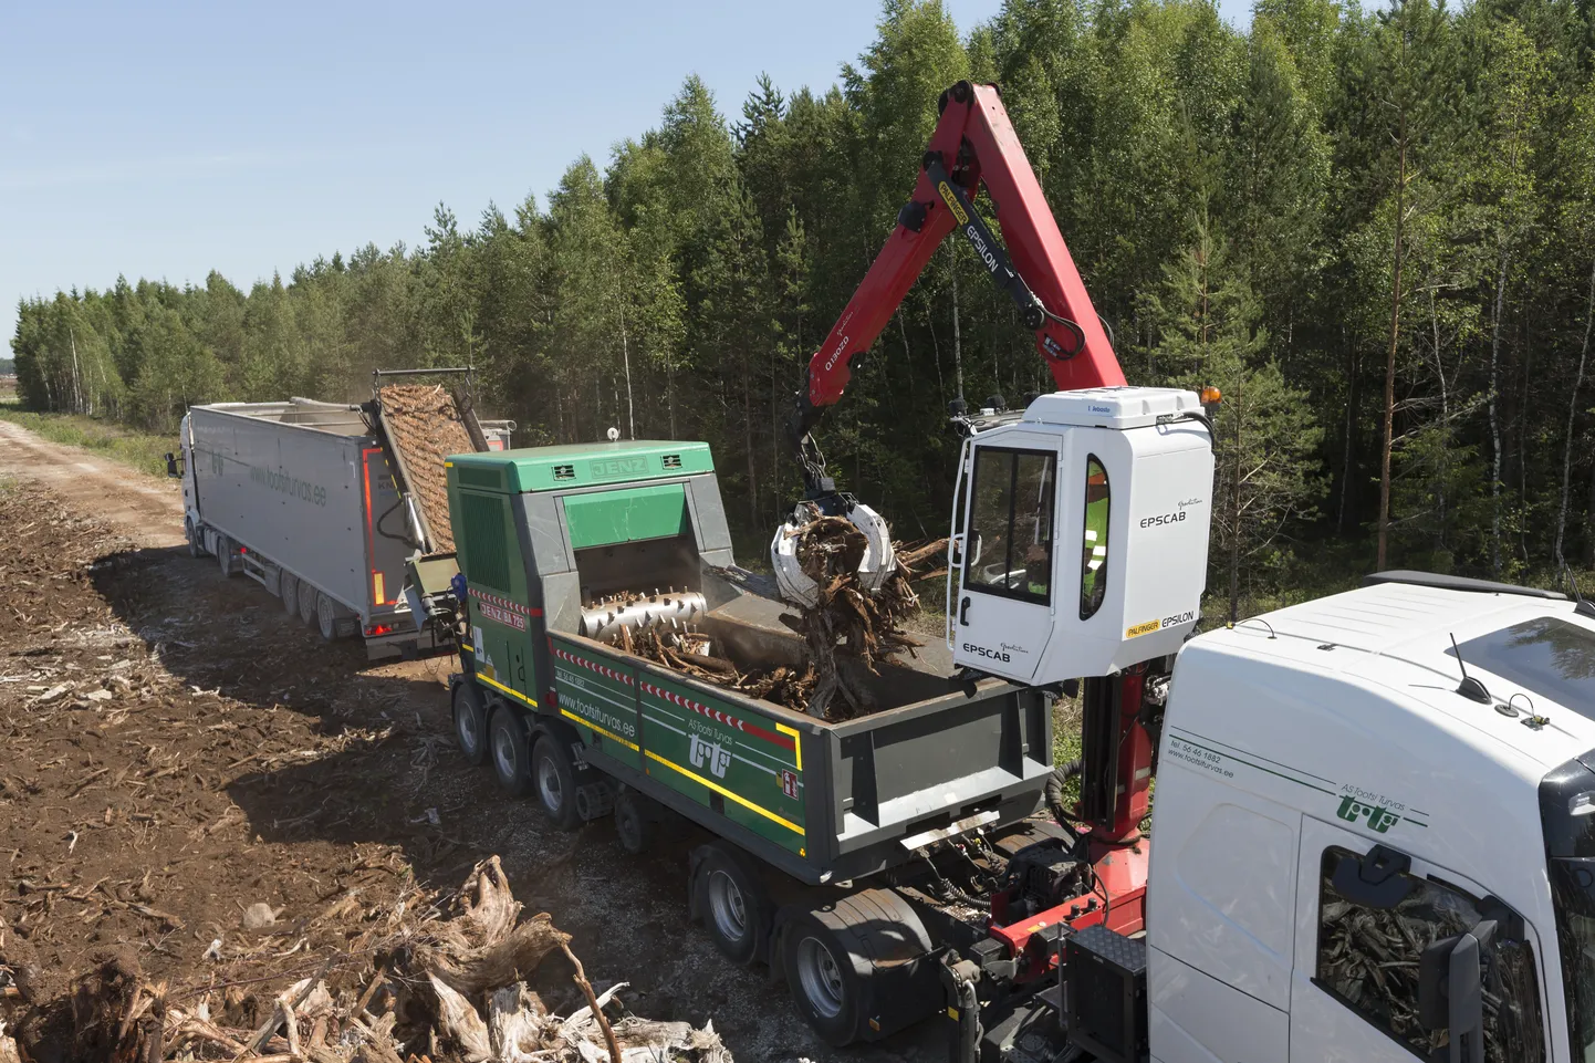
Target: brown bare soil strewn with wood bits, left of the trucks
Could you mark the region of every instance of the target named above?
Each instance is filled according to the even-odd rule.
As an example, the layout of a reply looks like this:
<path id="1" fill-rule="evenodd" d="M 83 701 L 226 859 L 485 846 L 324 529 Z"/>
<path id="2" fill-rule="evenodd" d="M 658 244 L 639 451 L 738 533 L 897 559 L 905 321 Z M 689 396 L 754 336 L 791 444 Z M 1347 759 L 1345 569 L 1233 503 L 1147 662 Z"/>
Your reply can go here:
<path id="1" fill-rule="evenodd" d="M 451 889 L 499 854 L 640 1014 L 713 1020 L 742 1060 L 939 1057 L 933 1025 L 828 1049 L 767 972 L 687 923 L 692 838 L 636 859 L 608 820 L 560 833 L 499 795 L 453 749 L 451 658 L 376 667 L 321 642 L 187 555 L 175 487 L 5 423 L 0 476 L 0 964 L 29 970 L 0 986 L 0 1022 L 113 953 L 174 986 L 270 996 L 343 945 L 284 924 L 349 889 L 368 911 Z M 278 910 L 270 953 L 244 929 L 255 903 Z M 37 1060 L 83 1058 L 62 1028 L 24 1034 Z"/>

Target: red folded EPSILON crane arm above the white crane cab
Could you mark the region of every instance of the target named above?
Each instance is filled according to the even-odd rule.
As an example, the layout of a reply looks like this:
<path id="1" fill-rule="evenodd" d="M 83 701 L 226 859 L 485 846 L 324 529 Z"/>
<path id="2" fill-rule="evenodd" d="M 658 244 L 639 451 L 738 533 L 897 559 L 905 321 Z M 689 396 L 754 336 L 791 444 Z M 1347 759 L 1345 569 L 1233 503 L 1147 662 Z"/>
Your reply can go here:
<path id="1" fill-rule="evenodd" d="M 962 230 L 992 279 L 1019 303 L 1061 391 L 1124 383 L 1080 271 L 994 85 L 960 81 L 941 97 L 914 196 L 825 343 L 799 396 L 802 437 L 842 397 L 849 364 L 869 350 L 930 255 Z M 981 182 L 1002 217 L 1006 254 L 970 203 Z M 1011 265 L 1008 259 L 1011 257 Z"/>

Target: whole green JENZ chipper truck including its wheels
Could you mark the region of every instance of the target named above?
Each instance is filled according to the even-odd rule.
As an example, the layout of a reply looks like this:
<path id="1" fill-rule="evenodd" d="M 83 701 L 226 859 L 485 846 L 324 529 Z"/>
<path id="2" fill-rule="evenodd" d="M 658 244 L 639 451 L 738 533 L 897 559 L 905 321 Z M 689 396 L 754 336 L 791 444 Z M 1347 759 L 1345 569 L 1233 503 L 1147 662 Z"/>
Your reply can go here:
<path id="1" fill-rule="evenodd" d="M 979 854 L 1043 806 L 1048 694 L 952 682 L 933 640 L 879 674 L 844 659 L 876 704 L 833 723 L 624 651 L 622 629 L 667 624 L 740 667 L 802 664 L 791 607 L 735 563 L 707 444 L 467 453 L 447 472 L 456 554 L 412 583 L 455 616 L 466 758 L 561 828 L 612 817 L 630 851 L 667 825 L 707 832 L 687 857 L 695 918 L 732 959 L 788 970 L 828 1039 L 943 1010 L 938 948 L 979 921 L 871 883 L 936 873 L 927 848 Z"/>

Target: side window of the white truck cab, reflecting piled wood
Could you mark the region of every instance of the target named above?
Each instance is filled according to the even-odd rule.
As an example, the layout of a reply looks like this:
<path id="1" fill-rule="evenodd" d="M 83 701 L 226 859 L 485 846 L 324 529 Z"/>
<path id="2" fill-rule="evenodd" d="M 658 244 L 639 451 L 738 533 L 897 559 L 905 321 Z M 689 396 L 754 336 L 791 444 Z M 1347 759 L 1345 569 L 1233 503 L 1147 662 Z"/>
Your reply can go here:
<path id="1" fill-rule="evenodd" d="M 1346 798 L 1348 801 L 1351 798 Z M 1341 848 L 1324 851 L 1319 879 L 1317 970 L 1313 983 L 1418 1058 L 1448 1044 L 1448 1031 L 1429 1029 L 1418 1017 L 1418 962 L 1424 948 L 1471 931 L 1502 908 L 1434 878 L 1405 871 L 1405 895 L 1391 908 L 1359 903 L 1335 889 L 1343 860 L 1364 857 Z M 1361 867 L 1361 863 L 1359 863 Z M 1485 913 L 1485 907 L 1491 911 Z M 1518 934 L 1522 921 L 1518 921 Z M 1480 954 L 1485 993 L 1485 1063 L 1544 1063 L 1546 1033 L 1539 1012 L 1534 950 L 1501 926 Z"/>

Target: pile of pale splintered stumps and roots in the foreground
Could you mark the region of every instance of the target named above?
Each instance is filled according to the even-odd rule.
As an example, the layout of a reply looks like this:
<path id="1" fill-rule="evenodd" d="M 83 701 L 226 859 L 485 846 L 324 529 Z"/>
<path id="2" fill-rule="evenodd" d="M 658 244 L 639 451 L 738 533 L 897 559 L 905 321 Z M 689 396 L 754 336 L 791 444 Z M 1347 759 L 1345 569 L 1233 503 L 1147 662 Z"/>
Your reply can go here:
<path id="1" fill-rule="evenodd" d="M 322 918 L 362 911 L 340 900 Z M 625 983 L 595 993 L 569 935 L 547 913 L 522 918 L 498 857 L 451 905 L 416 895 L 367 923 L 357 946 L 309 974 L 300 958 L 226 982 L 150 982 L 131 954 L 110 958 L 14 1028 L 0 1023 L 0 1063 L 30 1063 L 26 1045 L 49 1044 L 51 1029 L 70 1031 L 67 1058 L 112 1063 L 731 1063 L 711 1023 L 628 1015 Z M 563 1017 L 544 999 L 563 980 L 541 970 L 553 954 L 585 1001 Z M 10 990 L 3 939 L 0 975 Z"/>

